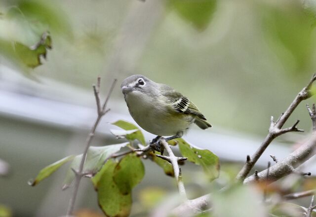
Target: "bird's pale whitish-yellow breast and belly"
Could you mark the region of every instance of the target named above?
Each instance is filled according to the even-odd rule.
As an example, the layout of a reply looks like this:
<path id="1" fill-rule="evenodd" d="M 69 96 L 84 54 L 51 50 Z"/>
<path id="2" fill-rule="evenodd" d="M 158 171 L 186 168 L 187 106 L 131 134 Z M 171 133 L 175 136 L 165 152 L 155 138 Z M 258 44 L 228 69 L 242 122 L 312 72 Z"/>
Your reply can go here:
<path id="1" fill-rule="evenodd" d="M 129 113 L 141 128 L 152 134 L 173 136 L 179 131 L 185 132 L 192 122 L 188 115 L 171 115 L 164 106 L 157 105 L 158 102 L 149 102 L 151 99 L 144 94 L 135 95 L 126 98 Z"/>

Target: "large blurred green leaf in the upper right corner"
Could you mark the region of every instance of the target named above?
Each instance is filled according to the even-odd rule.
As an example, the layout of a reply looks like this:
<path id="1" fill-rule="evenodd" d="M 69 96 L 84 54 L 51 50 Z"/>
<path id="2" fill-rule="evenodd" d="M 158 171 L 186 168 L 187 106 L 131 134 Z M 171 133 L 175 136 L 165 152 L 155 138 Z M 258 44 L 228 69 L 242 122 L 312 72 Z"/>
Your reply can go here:
<path id="1" fill-rule="evenodd" d="M 287 70 L 302 72 L 308 69 L 315 50 L 315 26 L 301 2 L 260 2 L 258 10 L 262 14 L 263 31 L 267 41 Z"/>

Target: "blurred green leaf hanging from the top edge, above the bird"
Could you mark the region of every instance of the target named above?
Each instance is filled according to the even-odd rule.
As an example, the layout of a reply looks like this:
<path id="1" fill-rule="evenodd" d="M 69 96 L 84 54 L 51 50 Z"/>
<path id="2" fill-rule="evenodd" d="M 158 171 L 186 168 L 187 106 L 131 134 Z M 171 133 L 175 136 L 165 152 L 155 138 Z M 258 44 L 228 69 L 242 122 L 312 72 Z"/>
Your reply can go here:
<path id="1" fill-rule="evenodd" d="M 216 0 L 167 0 L 167 5 L 181 18 L 204 30 L 216 9 Z"/>

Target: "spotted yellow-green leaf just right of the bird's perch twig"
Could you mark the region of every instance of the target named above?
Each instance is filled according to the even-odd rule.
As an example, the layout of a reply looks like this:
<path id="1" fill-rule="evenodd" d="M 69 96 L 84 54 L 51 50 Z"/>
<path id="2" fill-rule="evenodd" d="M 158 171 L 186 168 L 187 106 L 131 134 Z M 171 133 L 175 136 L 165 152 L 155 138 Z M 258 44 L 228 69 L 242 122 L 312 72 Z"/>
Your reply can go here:
<path id="1" fill-rule="evenodd" d="M 187 157 L 189 161 L 202 166 L 205 174 L 210 181 L 219 176 L 219 159 L 210 150 L 202 150 L 189 145 L 183 139 L 176 139 L 182 156 Z"/>

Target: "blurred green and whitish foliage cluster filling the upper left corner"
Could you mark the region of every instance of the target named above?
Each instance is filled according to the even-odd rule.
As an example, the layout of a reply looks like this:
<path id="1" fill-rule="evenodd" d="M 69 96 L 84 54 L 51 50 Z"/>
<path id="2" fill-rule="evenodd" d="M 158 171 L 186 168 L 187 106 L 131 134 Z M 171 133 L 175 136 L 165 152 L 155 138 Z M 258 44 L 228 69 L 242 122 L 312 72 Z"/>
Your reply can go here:
<path id="1" fill-rule="evenodd" d="M 63 10 L 40 0 L 7 1 L 0 17 L 0 54 L 8 57 L 22 70 L 41 65 L 54 36 L 71 36 L 71 26 Z"/>

